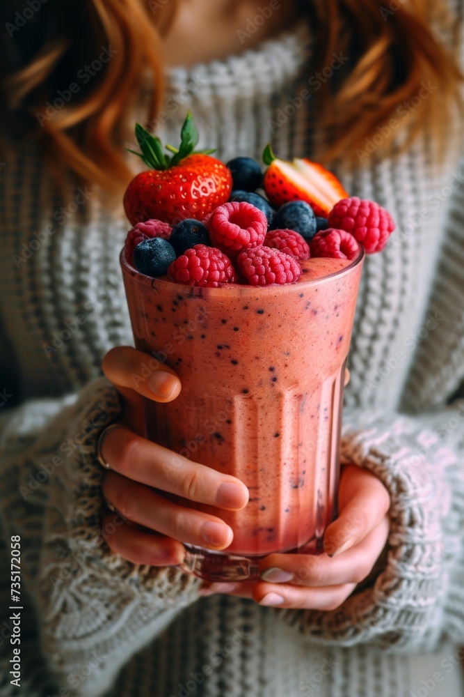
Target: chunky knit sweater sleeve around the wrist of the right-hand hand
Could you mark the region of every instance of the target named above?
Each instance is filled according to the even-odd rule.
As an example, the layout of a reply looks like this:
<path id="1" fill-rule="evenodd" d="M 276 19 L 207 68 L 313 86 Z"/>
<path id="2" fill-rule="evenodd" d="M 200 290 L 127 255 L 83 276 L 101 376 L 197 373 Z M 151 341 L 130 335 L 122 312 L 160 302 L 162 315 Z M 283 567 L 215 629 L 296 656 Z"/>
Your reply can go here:
<path id="1" fill-rule="evenodd" d="M 463 643 L 464 403 L 421 418 L 353 410 L 341 457 L 390 493 L 386 562 L 337 610 L 281 610 L 282 619 L 324 644 L 403 653 Z"/>

